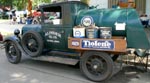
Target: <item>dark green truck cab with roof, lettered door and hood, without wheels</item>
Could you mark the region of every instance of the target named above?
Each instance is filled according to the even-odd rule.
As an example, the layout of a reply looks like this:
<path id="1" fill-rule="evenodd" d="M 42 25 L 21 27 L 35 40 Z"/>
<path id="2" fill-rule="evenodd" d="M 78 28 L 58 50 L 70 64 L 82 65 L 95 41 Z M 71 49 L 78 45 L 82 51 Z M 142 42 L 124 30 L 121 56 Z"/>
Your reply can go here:
<path id="1" fill-rule="evenodd" d="M 76 16 L 80 10 L 88 9 L 81 2 L 63 2 L 39 6 L 42 13 L 40 24 L 26 25 L 22 34 L 29 30 L 40 32 L 44 47 L 53 50 L 68 50 L 68 37 L 72 36 Z"/>

